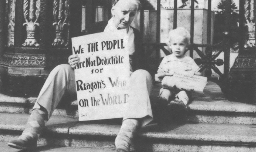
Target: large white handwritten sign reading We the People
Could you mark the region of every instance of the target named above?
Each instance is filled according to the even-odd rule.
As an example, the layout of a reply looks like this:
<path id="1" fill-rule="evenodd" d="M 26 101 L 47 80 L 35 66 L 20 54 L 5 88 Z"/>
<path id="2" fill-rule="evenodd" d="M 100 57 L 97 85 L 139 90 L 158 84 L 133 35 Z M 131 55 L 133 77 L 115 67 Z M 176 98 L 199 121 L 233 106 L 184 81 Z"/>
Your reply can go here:
<path id="1" fill-rule="evenodd" d="M 129 93 L 124 30 L 72 38 L 79 121 L 122 118 Z"/>

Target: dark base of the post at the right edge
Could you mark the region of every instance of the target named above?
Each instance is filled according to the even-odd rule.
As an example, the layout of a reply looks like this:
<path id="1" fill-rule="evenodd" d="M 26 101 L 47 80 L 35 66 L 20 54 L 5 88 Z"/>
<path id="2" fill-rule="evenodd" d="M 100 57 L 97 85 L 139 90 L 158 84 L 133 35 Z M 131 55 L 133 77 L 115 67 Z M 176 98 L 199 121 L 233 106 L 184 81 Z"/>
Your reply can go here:
<path id="1" fill-rule="evenodd" d="M 229 73 L 229 97 L 255 104 L 255 50 L 239 54 Z"/>

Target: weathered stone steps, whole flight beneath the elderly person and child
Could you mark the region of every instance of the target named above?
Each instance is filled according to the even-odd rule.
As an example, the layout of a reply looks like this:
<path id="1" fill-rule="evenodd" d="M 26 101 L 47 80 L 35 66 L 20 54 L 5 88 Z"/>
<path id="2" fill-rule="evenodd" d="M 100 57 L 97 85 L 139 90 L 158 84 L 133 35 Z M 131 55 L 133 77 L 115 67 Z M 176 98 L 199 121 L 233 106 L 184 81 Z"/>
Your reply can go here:
<path id="1" fill-rule="evenodd" d="M 160 87 L 154 85 L 151 100 Z M 228 101 L 213 82 L 208 82 L 204 92 L 189 104 L 186 124 L 149 124 L 141 128 L 132 149 L 255 152 L 255 105 Z M 35 100 L 0 94 L 0 141 L 8 142 L 21 134 Z M 114 149 L 120 124 L 121 119 L 78 121 L 77 104 L 73 101 L 54 111 L 38 145 Z"/>

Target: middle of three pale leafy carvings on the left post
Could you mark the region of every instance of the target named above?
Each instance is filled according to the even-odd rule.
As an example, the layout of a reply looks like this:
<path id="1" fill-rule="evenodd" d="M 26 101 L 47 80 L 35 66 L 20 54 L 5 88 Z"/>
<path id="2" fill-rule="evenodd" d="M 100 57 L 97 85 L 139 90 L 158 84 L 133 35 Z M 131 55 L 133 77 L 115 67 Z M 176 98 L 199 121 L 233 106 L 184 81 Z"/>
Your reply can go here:
<path id="1" fill-rule="evenodd" d="M 24 0 L 23 14 L 25 18 L 27 39 L 22 44 L 25 47 L 38 47 L 38 41 L 35 38 L 36 27 L 39 27 L 38 19 L 40 14 L 40 0 Z"/>

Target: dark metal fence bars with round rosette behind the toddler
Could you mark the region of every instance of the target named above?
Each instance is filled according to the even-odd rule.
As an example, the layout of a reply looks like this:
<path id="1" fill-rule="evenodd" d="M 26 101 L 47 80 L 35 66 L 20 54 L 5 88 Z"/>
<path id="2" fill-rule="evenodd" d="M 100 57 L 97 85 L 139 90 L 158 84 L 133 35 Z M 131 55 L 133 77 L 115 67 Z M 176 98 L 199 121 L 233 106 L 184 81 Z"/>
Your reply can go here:
<path id="1" fill-rule="evenodd" d="M 227 0 L 230 3 L 231 6 L 231 0 Z M 161 17 L 161 8 L 160 8 L 161 0 L 157 0 L 157 23 L 156 23 L 156 43 L 144 43 L 146 46 L 154 46 L 154 49 L 157 51 L 157 64 L 160 63 L 161 57 L 160 57 L 160 50 L 162 50 L 166 55 L 171 54 L 165 46 L 167 46 L 165 43 L 160 43 L 160 17 Z M 227 8 L 227 12 L 230 12 L 230 6 Z M 209 80 L 212 80 L 216 82 L 223 93 L 228 92 L 228 74 L 229 74 L 229 17 L 230 13 L 225 14 L 226 18 L 226 32 L 223 32 L 223 40 L 218 44 L 211 44 L 211 10 L 212 7 L 212 1 L 208 0 L 208 9 L 207 9 L 207 44 L 195 44 L 194 43 L 194 0 L 191 1 L 191 23 L 190 23 L 190 34 L 191 34 L 191 46 L 189 48 L 190 50 L 190 56 L 193 58 L 193 51 L 195 51 L 200 58 L 195 58 L 195 62 L 197 65 L 200 65 L 200 72 L 203 72 L 205 76 L 208 77 Z M 141 16 L 140 19 L 143 21 L 144 8 L 141 8 Z M 177 28 L 177 0 L 174 0 L 174 13 L 173 13 L 173 29 Z M 144 24 L 141 22 L 140 24 L 140 31 L 143 32 L 144 30 Z M 203 53 L 198 48 L 205 48 L 205 53 Z M 213 54 L 213 48 L 220 48 L 219 51 Z M 221 52 L 224 52 L 224 61 L 222 59 L 216 59 Z M 220 70 L 217 68 L 217 66 L 221 66 L 224 64 L 224 72 L 221 73 Z M 212 70 L 216 72 L 219 76 L 218 77 L 212 77 Z"/>

